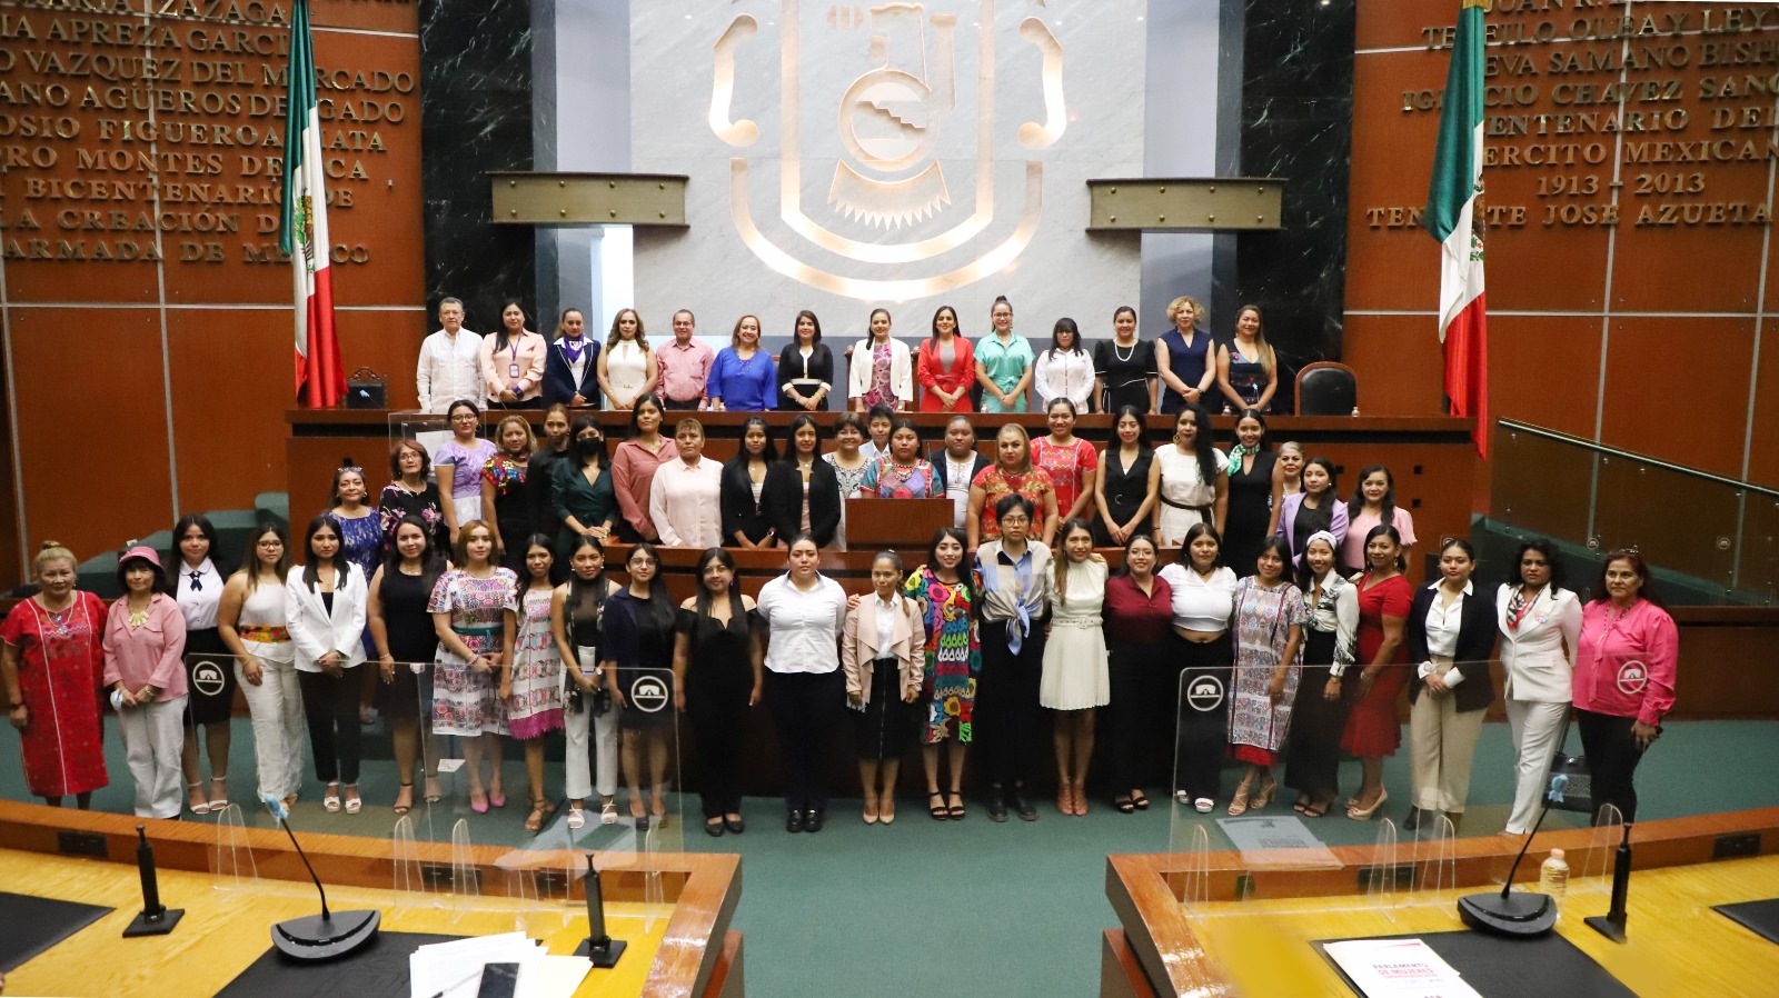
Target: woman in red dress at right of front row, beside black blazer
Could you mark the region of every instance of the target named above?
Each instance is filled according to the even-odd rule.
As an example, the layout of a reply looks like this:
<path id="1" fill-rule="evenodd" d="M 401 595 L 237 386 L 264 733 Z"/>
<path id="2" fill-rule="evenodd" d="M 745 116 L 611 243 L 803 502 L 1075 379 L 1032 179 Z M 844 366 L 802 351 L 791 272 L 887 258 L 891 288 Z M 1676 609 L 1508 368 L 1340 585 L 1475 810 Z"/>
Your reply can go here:
<path id="1" fill-rule="evenodd" d="M 1402 724 L 1397 720 L 1397 694 L 1409 681 L 1407 648 L 1402 624 L 1409 616 L 1414 591 L 1402 578 L 1402 537 L 1395 527 L 1381 523 L 1364 537 L 1366 573 L 1359 576 L 1359 697 L 1347 715 L 1340 747 L 1359 756 L 1364 781 L 1347 802 L 1347 817 L 1366 820 L 1389 799 L 1384 792 L 1384 756 L 1397 754 Z"/>

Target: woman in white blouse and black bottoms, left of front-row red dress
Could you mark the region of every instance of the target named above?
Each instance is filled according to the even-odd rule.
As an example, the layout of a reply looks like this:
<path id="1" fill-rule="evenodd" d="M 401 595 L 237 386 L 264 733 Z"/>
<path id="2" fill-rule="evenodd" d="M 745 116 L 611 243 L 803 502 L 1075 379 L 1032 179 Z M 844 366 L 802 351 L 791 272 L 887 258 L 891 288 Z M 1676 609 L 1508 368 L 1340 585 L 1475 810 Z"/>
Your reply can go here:
<path id="1" fill-rule="evenodd" d="M 1340 735 L 1347 726 L 1341 676 L 1354 664 L 1359 630 L 1359 591 L 1340 573 L 1338 550 L 1332 534 L 1316 530 L 1304 541 L 1297 575 L 1309 621 L 1292 740 L 1284 751 L 1284 785 L 1297 790 L 1292 809 L 1306 818 L 1327 815 L 1340 793 Z"/>

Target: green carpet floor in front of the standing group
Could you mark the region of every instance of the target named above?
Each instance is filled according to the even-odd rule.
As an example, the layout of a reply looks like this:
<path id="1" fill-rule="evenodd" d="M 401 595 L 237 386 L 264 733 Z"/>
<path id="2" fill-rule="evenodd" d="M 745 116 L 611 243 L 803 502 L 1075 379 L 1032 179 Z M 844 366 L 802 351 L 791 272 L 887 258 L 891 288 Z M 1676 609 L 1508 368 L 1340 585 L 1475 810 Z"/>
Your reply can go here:
<path id="1" fill-rule="evenodd" d="M 1571 749 L 1578 740 L 1571 735 Z M 132 786 L 116 726 L 107 731 L 112 785 L 94 795 L 94 808 L 128 813 Z M 301 829 L 388 836 L 395 822 L 393 770 L 386 740 L 366 736 L 365 813 L 322 811 L 320 786 L 297 804 Z M 246 720 L 235 724 L 231 790 L 251 795 L 253 753 Z M 1509 731 L 1489 724 L 1477 751 L 1466 834 L 1494 834 L 1512 792 Z M 473 815 L 461 801 L 441 804 L 431 834 L 445 838 L 457 817 L 468 820 L 477 845 L 523 847 L 534 840 L 525 818 L 525 776 L 518 754 L 505 763 L 505 809 Z M 1226 770 L 1226 792 L 1235 785 Z M 1357 763 L 1341 767 L 1345 788 L 1357 786 Z M 560 786 L 559 767 L 550 785 Z M 1384 811 L 1400 820 L 1407 808 L 1407 765 L 1398 754 L 1386 765 L 1391 801 Z M 0 765 L 0 793 L 25 799 L 18 765 Z M 1674 722 L 1638 770 L 1640 818 L 1676 818 L 1779 802 L 1779 722 Z M 1226 801 L 1220 801 L 1226 802 Z M 1288 815 L 1288 802 L 1267 815 Z M 1174 815 L 1156 799 L 1147 813 L 1119 815 L 1101 797 L 1085 818 L 1064 818 L 1053 801 L 1039 801 L 1039 820 L 996 825 L 971 801 L 964 822 L 934 822 L 922 801 L 902 799 L 895 825 L 865 825 L 857 799 L 838 799 L 820 834 L 786 834 L 777 801 L 749 799 L 751 827 L 742 836 L 708 838 L 697 825 L 697 801 L 676 802 L 692 825 L 674 817 L 662 849 L 742 854 L 742 902 L 735 929 L 745 934 L 745 975 L 751 994 L 767 998 L 902 996 L 948 991 L 982 996 L 1094 994 L 1099 980 L 1099 934 L 1115 925 L 1105 900 L 1108 852 L 1162 852 L 1176 822 L 1204 822 L 1211 849 L 1228 849 L 1217 827 L 1220 813 Z M 420 815 L 423 817 L 423 815 Z M 1345 817 L 1306 822 L 1327 845 L 1370 845 L 1377 822 Z M 1551 813 L 1548 827 L 1574 825 L 1576 815 Z M 422 822 L 422 838 L 429 834 Z M 610 833 L 601 833 L 610 834 Z M 560 843 L 555 825 L 541 843 Z"/>

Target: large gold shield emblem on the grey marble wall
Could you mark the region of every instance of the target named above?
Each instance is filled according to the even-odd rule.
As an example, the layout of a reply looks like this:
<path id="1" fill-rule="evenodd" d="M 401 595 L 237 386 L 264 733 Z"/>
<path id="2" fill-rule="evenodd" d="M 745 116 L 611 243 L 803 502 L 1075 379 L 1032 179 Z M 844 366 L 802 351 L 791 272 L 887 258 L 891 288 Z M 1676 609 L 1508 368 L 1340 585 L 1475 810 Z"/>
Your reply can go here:
<path id="1" fill-rule="evenodd" d="M 1028 0 L 1042 5 L 1041 0 Z M 779 221 L 790 245 L 761 233 L 749 201 L 754 165 L 745 155 L 729 160 L 729 208 L 742 242 L 772 270 L 838 295 L 861 301 L 907 301 L 961 288 L 1012 263 L 1030 245 L 1042 217 L 1044 164 L 1025 155 L 1025 197 L 1009 235 L 982 238 L 994 221 L 994 0 L 961 4 L 973 9 L 975 116 L 957 105 L 957 37 L 964 25 L 955 11 L 927 4 L 893 2 L 868 11 L 833 5 L 831 27 L 868 27 L 868 68 L 834 98 L 834 139 L 840 155 L 827 183 L 827 224 L 809 217 L 802 192 L 801 0 L 779 0 Z M 719 139 L 747 149 L 760 139 L 754 121 L 731 119 L 737 89 L 737 53 L 760 34 L 753 14 L 735 16 L 713 48 L 710 128 Z M 1067 128 L 1062 91 L 1062 44 L 1042 18 L 1019 21 L 1019 37 L 1041 53 L 1044 121 L 1026 121 L 1018 142 L 1028 151 L 1053 146 Z M 824 53 L 831 55 L 831 53 Z M 817 98 L 829 100 L 829 98 Z M 943 130 L 975 128 L 975 155 L 966 176 L 948 178 L 938 148 Z M 952 160 L 955 165 L 957 160 Z M 954 201 L 954 185 L 968 190 Z M 948 224 L 946 224 L 948 222 Z M 939 231 L 911 238 L 913 228 Z M 898 238 L 902 237 L 902 238 Z M 934 258 L 982 242 L 966 263 Z M 872 265 L 882 276 L 852 278 L 808 260 L 825 251 Z M 925 267 L 923 267 L 925 263 Z"/>

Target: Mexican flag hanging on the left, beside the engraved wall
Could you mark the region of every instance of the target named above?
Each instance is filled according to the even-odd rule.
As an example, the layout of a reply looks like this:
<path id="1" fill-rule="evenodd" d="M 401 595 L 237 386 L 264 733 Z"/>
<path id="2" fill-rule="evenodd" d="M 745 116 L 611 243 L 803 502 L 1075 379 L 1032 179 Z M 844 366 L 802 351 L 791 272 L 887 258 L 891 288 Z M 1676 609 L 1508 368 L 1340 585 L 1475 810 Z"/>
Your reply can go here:
<path id="1" fill-rule="evenodd" d="M 333 269 L 327 265 L 327 190 L 322 126 L 315 107 L 315 50 L 310 0 L 295 0 L 290 18 L 290 80 L 285 105 L 285 201 L 278 247 L 290 254 L 297 306 L 297 398 L 310 409 L 338 406 L 345 368 L 333 331 Z"/>

